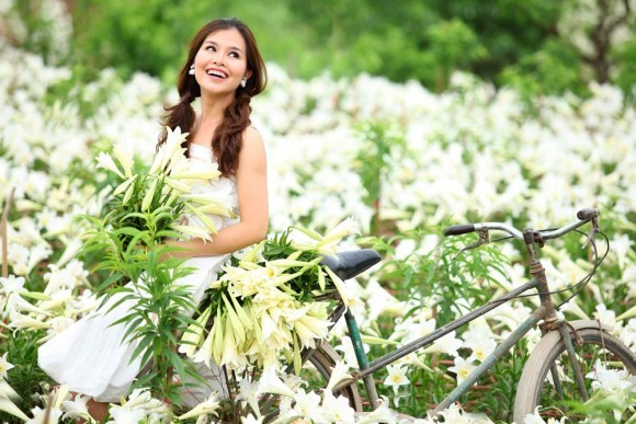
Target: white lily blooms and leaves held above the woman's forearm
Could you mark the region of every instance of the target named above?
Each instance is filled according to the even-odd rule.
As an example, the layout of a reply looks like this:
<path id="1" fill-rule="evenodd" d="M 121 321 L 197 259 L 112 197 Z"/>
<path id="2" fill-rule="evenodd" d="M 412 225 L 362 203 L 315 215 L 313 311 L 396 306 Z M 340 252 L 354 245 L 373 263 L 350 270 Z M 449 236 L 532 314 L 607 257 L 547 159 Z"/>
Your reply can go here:
<path id="1" fill-rule="evenodd" d="M 179 127 L 168 128 L 167 140 L 147 171 L 136 172 L 129 145 L 120 142 L 112 154 L 99 153 L 98 168 L 111 171 L 117 184 L 110 196 L 107 215 L 103 219 L 87 217 L 93 230 L 84 248 L 106 252 L 101 267 L 112 268 L 113 261 L 121 263 L 127 254 L 144 253 L 169 238 L 211 240 L 218 230 L 211 215 L 234 217 L 226 193 L 192 192 L 196 184 L 218 180 L 220 172 L 216 163 L 194 164 L 185 157 L 182 145 L 186 137 Z M 184 215 L 195 216 L 197 225 L 184 225 L 179 219 Z"/>

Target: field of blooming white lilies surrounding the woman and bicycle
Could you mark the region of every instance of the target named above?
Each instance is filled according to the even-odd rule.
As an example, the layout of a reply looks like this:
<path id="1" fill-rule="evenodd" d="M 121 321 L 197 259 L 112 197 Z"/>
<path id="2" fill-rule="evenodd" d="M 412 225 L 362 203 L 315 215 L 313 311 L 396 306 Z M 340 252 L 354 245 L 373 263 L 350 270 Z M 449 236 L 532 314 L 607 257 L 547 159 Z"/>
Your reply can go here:
<path id="1" fill-rule="evenodd" d="M 175 93 L 146 75 L 122 80 L 109 69 L 80 84 L 70 69 L 47 66 L 7 44 L 0 44 L 0 206 L 8 213 L 0 278 L 0 411 L 7 421 L 72 421 L 84 412 L 86 400 L 50 394 L 54 382 L 38 370 L 36 348 L 96 307 L 91 295 L 99 282 L 92 270 L 99 259 L 78 257 L 86 222 L 77 217 L 100 216 L 104 208 L 109 185 L 95 171 L 100 152 L 121 142 L 150 164 L 162 106 Z M 348 217 L 357 222 L 361 237 L 345 239 L 340 248 L 372 247 L 383 255 L 379 265 L 348 282 L 350 308 L 372 357 L 529 276 L 522 247 L 508 241 L 451 261 L 475 236 L 445 239 L 444 226 L 504 221 L 555 228 L 583 207 L 601 210 L 611 249 L 563 311 L 612 325 L 636 352 L 636 110 L 618 89 L 592 85 L 589 99 L 525 102 L 469 75 L 455 75 L 448 91 L 434 94 L 414 82 L 364 75 L 303 81 L 274 64 L 268 71 L 269 88 L 252 106 L 253 125 L 268 146 L 271 232 L 292 225 L 327 231 Z M 542 252 L 553 289 L 566 289 L 590 271 L 583 240 L 568 236 Z M 604 252 L 600 238 L 599 249 Z M 535 302 L 511 301 L 378 373 L 386 406 L 425 416 Z M 353 364 L 351 346 L 336 337 L 343 331 L 340 324 L 332 331 L 333 344 Z M 524 339 L 506 364 L 462 399 L 462 410 L 446 412 L 446 421 L 509 422 L 515 382 L 538 336 L 536 331 Z M 269 383 L 279 381 L 265 377 Z M 296 414 L 291 416 L 309 411 L 316 422 L 334 422 L 328 415 L 342 411 L 342 422 L 353 422 L 333 396 L 313 397 L 305 389 L 289 389 L 295 403 L 287 412 Z M 603 414 L 617 421 L 633 414 L 633 380 L 599 390 L 621 400 L 613 414 Z M 202 404 L 201 422 L 214 405 Z M 162 411 L 149 392 L 136 391 L 112 408 L 111 420 L 158 422 Z M 382 412 L 386 415 L 377 420 L 395 419 Z"/>

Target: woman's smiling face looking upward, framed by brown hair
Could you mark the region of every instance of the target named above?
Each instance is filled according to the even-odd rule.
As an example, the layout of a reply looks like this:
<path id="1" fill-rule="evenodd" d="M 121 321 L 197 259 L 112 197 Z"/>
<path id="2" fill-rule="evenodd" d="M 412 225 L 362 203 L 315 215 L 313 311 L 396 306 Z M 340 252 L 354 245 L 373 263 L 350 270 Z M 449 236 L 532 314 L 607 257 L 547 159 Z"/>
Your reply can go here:
<path id="1" fill-rule="evenodd" d="M 209 34 L 194 57 L 194 78 L 202 94 L 235 93 L 249 79 L 246 42 L 237 28 Z"/>

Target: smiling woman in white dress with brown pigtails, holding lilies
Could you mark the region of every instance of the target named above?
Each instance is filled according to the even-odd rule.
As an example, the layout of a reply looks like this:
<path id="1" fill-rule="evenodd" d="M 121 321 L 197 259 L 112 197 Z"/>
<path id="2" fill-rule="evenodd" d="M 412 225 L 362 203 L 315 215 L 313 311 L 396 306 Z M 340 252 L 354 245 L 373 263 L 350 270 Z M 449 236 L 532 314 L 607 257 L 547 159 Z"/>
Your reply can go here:
<path id="1" fill-rule="evenodd" d="M 238 218 L 213 217 L 220 230 L 213 242 L 173 241 L 173 255 L 195 271 L 183 278 L 198 303 L 227 255 L 264 239 L 268 231 L 268 186 L 264 144 L 250 126 L 250 100 L 265 87 L 265 68 L 251 31 L 236 19 L 204 25 L 190 45 L 179 75 L 178 104 L 168 108 L 166 125 L 190 136 L 188 154 L 196 161 L 218 163 L 219 181 L 202 184 L 201 192 L 228 191 Z M 201 110 L 192 102 L 201 98 Z M 159 137 L 166 142 L 167 131 Z M 184 216 L 183 219 L 195 220 Z M 193 222 L 191 222 L 193 224 Z M 122 306 L 122 307 L 125 307 Z M 126 397 L 141 365 L 133 359 L 134 346 L 122 344 L 123 325 L 111 326 L 124 311 L 104 308 L 41 346 L 38 363 L 57 382 L 75 393 L 92 397 L 89 412 L 96 420 L 107 404 Z"/>

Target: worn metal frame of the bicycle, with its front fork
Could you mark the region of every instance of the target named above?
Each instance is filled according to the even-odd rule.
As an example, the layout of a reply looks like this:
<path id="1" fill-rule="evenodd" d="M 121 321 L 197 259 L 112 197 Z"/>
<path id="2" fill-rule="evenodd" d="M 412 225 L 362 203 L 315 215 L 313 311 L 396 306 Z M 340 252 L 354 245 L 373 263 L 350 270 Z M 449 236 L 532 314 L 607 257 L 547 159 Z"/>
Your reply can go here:
<path id="1" fill-rule="evenodd" d="M 584 222 L 582 222 L 584 224 Z M 558 229 L 558 230 L 553 230 L 549 232 L 545 232 L 545 239 L 547 238 L 557 238 L 575 228 L 580 227 L 581 221 L 577 221 L 577 222 L 571 222 L 570 225 Z M 476 229 L 480 231 L 480 241 L 481 238 L 486 237 L 487 238 L 487 230 L 488 227 L 485 228 L 477 228 Z M 343 380 L 341 383 L 337 385 L 337 387 L 334 388 L 334 390 L 338 390 L 339 388 L 343 388 L 347 387 L 349 385 L 355 383 L 357 380 L 362 379 L 364 381 L 364 386 L 366 389 L 366 393 L 367 393 L 367 398 L 368 401 L 372 405 L 373 409 L 378 408 L 379 405 L 379 398 L 377 396 L 377 390 L 375 387 L 375 381 L 373 379 L 373 373 L 386 367 L 387 365 L 405 357 L 406 355 L 418 351 L 433 342 L 435 342 L 436 340 L 441 339 L 442 336 L 448 334 L 451 331 L 458 329 L 459 326 L 469 323 L 470 321 L 484 316 L 485 313 L 489 312 L 490 310 L 501 306 L 503 302 L 511 300 L 515 297 L 518 297 L 519 295 L 535 288 L 538 291 L 538 296 L 540 296 L 540 300 L 541 300 L 541 305 L 503 341 L 501 342 L 496 348 L 495 351 L 484 359 L 484 362 L 481 362 L 481 364 L 479 364 L 477 366 L 477 368 L 475 370 L 473 370 L 473 373 L 470 373 L 470 375 L 468 375 L 464 381 L 462 381 L 462 383 L 459 383 L 451 393 L 448 393 L 443 400 L 442 402 L 435 408 L 434 412 L 439 412 L 442 411 L 446 408 L 448 408 L 451 404 L 453 404 L 455 401 L 457 401 L 478 379 L 479 377 L 481 377 L 486 371 L 488 371 L 493 365 L 495 363 L 497 363 L 497 360 L 499 358 L 501 358 L 506 353 L 508 353 L 510 351 L 510 348 L 512 346 L 514 346 L 529 331 L 531 331 L 540 321 L 543 320 L 543 323 L 540 325 L 541 330 L 542 330 L 542 334 L 547 333 L 548 331 L 553 331 L 553 330 L 558 330 L 561 334 L 561 337 L 564 339 L 566 346 L 568 346 L 568 353 L 570 355 L 570 358 L 573 358 L 575 354 L 573 354 L 573 348 L 571 348 L 572 346 L 572 340 L 571 340 L 571 335 L 569 333 L 569 331 L 567 330 L 567 326 L 564 325 L 563 320 L 559 320 L 556 316 L 556 309 L 554 307 L 554 303 L 552 302 L 552 298 L 550 298 L 550 294 L 549 294 L 549 288 L 547 285 L 547 278 L 545 275 L 545 268 L 543 267 L 543 265 L 541 264 L 541 261 L 538 260 L 538 255 L 536 253 L 535 250 L 535 242 L 542 243 L 543 239 L 542 238 L 542 233 L 535 233 L 530 229 L 525 229 L 521 234 L 513 234 L 515 237 L 521 236 L 524 240 L 524 243 L 526 245 L 529 255 L 530 255 L 530 273 L 532 275 L 532 279 L 530 279 L 529 282 L 526 282 L 525 284 L 519 286 L 518 288 L 508 291 L 507 294 L 502 295 L 501 297 L 489 301 L 488 303 L 468 312 L 467 314 L 436 329 L 435 331 L 433 331 L 432 333 L 422 336 L 409 344 L 406 344 L 399 348 L 396 348 L 393 352 L 389 352 L 385 355 L 383 355 L 382 357 L 373 360 L 373 362 L 368 362 L 367 357 L 366 357 L 366 353 L 364 352 L 364 347 L 362 344 L 362 337 L 360 334 L 360 330 L 357 326 L 357 323 L 355 321 L 355 317 L 353 316 L 353 313 L 350 310 L 344 311 L 344 307 L 341 305 L 339 306 L 339 308 L 342 308 L 339 310 L 339 308 L 337 308 L 337 311 L 334 312 L 334 314 L 337 317 L 342 316 L 343 311 L 344 311 L 344 317 L 345 317 L 345 322 L 347 322 L 347 326 L 349 330 L 349 337 L 352 341 L 353 344 L 353 348 L 355 352 L 355 356 L 359 363 L 359 370 L 352 373 L 351 378 L 348 378 L 345 380 Z M 479 242 L 478 242 L 479 243 Z M 476 244 L 479 245 L 479 244 Z M 572 360 L 575 368 L 577 367 L 577 362 Z M 582 376 L 580 370 L 575 369 L 575 374 L 577 376 L 577 379 L 579 379 L 579 382 L 582 380 Z M 581 386 L 583 387 L 583 386 Z M 583 393 L 583 397 L 586 396 L 586 393 Z"/>

